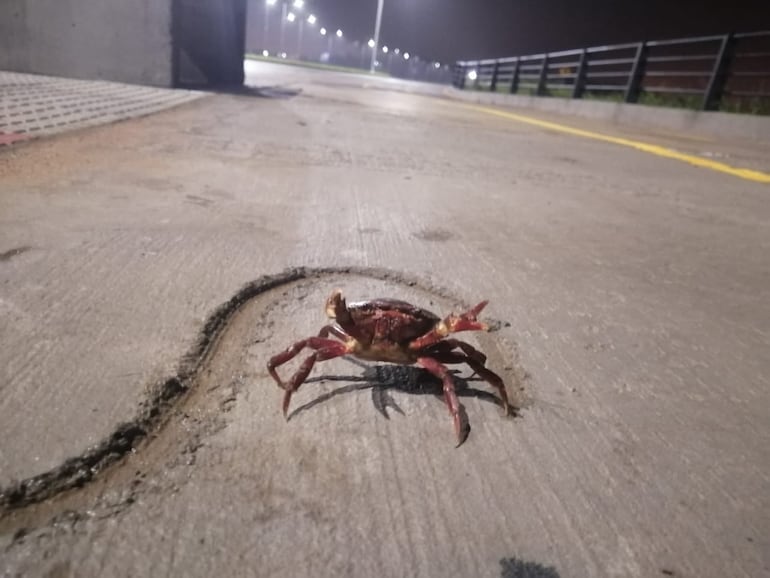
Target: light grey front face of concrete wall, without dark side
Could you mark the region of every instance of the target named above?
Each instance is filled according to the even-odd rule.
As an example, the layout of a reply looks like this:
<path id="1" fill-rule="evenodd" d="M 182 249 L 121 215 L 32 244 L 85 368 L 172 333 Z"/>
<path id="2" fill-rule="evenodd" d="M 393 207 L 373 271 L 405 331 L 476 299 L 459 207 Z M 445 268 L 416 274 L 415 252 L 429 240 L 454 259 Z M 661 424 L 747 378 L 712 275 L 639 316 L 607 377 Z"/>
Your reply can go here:
<path id="1" fill-rule="evenodd" d="M 0 0 L 0 69 L 172 85 L 172 0 Z"/>

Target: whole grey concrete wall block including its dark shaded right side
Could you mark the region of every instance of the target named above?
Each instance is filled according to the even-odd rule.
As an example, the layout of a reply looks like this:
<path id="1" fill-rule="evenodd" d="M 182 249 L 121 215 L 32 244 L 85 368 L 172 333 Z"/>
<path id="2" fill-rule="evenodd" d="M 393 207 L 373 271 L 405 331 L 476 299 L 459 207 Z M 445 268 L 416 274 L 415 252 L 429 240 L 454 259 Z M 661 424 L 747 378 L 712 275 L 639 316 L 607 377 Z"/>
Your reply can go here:
<path id="1" fill-rule="evenodd" d="M 246 0 L 0 0 L 0 70 L 243 83 Z"/>

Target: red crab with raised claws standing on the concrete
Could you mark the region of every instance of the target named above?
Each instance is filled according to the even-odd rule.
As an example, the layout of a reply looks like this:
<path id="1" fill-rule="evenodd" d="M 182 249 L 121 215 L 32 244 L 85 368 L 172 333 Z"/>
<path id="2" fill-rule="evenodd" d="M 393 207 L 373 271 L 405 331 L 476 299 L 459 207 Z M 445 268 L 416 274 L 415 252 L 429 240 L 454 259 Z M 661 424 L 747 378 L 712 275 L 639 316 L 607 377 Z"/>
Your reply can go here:
<path id="1" fill-rule="evenodd" d="M 326 300 L 326 315 L 332 322 L 321 328 L 318 336 L 297 341 L 273 356 L 267 364 L 270 375 L 284 390 L 284 417 L 288 416 L 292 395 L 307 379 L 316 361 L 352 355 L 367 361 L 417 364 L 441 380 L 459 446 L 467 438 L 470 427 L 463 427 L 454 381 L 445 364 L 465 363 L 470 366 L 475 375 L 497 389 L 504 414 L 511 415 L 505 384 L 499 375 L 485 366 L 486 355 L 469 343 L 449 337 L 460 331 L 489 331 L 487 324 L 476 319 L 487 303 L 482 301 L 464 313 L 452 313 L 441 319 L 426 309 L 395 299 L 348 304 L 342 291 L 335 289 Z M 288 381 L 283 381 L 276 368 L 305 348 L 312 349 L 313 353 Z"/>

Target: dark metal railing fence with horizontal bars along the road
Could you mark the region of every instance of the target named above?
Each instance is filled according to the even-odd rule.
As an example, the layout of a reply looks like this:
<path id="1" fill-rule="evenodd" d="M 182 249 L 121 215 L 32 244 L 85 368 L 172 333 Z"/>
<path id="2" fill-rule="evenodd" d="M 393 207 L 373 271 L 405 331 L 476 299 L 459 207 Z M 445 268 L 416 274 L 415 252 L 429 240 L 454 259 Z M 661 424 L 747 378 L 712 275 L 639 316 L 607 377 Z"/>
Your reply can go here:
<path id="1" fill-rule="evenodd" d="M 458 88 L 770 113 L 770 31 L 461 61 Z"/>

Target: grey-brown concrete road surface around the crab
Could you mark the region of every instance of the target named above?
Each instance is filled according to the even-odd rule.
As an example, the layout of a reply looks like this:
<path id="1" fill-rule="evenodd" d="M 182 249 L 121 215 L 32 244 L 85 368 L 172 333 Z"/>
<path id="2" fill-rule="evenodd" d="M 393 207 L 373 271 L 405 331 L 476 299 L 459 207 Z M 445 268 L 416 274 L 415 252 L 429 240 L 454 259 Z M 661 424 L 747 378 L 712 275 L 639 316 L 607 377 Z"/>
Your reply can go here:
<path id="1" fill-rule="evenodd" d="M 4 573 L 768 573 L 767 185 L 262 74 L 301 92 L 0 152 Z M 266 359 L 338 286 L 489 299 L 521 416 L 462 371 L 455 449 L 434 382 L 338 360 L 285 423 Z"/>

